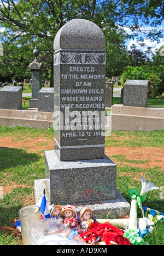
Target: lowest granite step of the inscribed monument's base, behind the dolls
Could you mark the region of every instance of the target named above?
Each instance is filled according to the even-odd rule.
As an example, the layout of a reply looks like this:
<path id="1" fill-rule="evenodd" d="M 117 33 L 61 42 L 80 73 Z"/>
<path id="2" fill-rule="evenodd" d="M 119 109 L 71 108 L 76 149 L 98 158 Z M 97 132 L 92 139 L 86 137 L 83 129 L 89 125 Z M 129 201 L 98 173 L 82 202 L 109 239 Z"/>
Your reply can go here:
<path id="1" fill-rule="evenodd" d="M 50 197 L 48 193 L 48 188 L 46 187 L 46 179 L 35 180 L 34 181 L 34 192 L 36 203 L 40 201 L 43 197 L 43 192 L 45 189 L 45 197 L 50 206 Z M 58 202 L 60 204 L 60 202 Z M 95 219 L 106 219 L 108 215 L 108 219 L 119 218 L 122 215 L 130 214 L 130 204 L 126 201 L 126 199 L 122 196 L 122 194 L 116 190 L 116 198 L 110 199 L 107 201 L 91 201 L 91 202 L 83 202 L 83 203 L 69 203 L 72 205 L 73 209 L 80 213 L 80 210 L 84 207 L 90 208 L 93 212 L 93 218 Z M 67 204 L 61 204 L 62 209 L 66 207 Z"/>

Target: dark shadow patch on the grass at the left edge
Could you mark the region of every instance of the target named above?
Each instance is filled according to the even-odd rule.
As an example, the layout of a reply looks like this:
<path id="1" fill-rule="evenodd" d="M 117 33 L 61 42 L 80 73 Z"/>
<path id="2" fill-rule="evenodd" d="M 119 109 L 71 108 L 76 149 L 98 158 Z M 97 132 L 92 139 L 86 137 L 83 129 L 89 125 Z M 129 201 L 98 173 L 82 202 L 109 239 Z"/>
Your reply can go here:
<path id="1" fill-rule="evenodd" d="M 0 171 L 36 162 L 39 158 L 38 154 L 27 153 L 23 149 L 0 147 Z"/>

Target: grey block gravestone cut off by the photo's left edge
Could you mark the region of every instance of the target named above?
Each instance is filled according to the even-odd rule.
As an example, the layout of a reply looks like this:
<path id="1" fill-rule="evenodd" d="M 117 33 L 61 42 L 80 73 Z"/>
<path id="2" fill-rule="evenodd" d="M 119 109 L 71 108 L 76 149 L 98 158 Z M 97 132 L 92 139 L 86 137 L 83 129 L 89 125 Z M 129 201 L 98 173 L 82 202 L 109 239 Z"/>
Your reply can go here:
<path id="1" fill-rule="evenodd" d="M 22 87 L 4 86 L 0 91 L 0 108 L 22 109 Z"/>

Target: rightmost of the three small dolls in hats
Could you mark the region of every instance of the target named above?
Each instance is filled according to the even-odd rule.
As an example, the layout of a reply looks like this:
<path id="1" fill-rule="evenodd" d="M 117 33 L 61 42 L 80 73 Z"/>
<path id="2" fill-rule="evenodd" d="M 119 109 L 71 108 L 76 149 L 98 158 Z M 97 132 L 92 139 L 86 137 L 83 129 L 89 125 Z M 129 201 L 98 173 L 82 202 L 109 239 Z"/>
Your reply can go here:
<path id="1" fill-rule="evenodd" d="M 92 210 L 89 208 L 84 208 L 80 211 L 80 217 L 81 217 L 81 222 L 80 222 L 80 227 L 81 230 L 87 231 L 90 229 L 90 226 L 93 222 L 92 218 Z"/>

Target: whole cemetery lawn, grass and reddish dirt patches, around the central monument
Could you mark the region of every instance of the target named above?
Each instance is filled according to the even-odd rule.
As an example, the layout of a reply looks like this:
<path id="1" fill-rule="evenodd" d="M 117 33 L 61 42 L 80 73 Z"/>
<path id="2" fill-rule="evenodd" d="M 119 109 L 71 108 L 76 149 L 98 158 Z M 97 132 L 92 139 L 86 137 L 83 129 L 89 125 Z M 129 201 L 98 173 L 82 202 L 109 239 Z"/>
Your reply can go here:
<path id="1" fill-rule="evenodd" d="M 139 177 L 154 183 L 160 190 L 147 194 L 143 206 L 164 213 L 164 131 L 113 131 L 105 137 L 105 153 L 117 165 L 116 188 L 128 202 L 127 183 L 139 189 Z M 18 210 L 35 204 L 34 180 L 44 179 L 44 151 L 54 149 L 54 130 L 28 127 L 0 127 L 0 244 L 22 244 L 20 233 L 13 226 Z M 138 217 L 142 214 L 138 208 Z M 110 218 L 110 213 L 108 215 Z M 164 244 L 164 222 L 144 240 Z"/>

